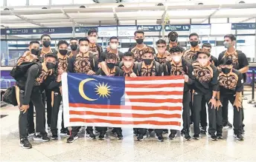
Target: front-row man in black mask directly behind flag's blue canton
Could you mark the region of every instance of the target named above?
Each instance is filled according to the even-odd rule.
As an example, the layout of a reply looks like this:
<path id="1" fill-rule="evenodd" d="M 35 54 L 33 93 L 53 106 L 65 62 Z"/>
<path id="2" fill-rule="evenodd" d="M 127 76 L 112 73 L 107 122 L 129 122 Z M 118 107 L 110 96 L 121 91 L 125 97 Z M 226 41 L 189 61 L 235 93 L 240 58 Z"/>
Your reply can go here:
<path id="1" fill-rule="evenodd" d="M 116 66 L 117 57 L 118 56 L 115 53 L 106 53 L 105 64 L 110 74 L 109 76 L 124 76 L 124 72 L 118 66 Z M 106 73 L 101 68 L 97 71 L 96 74 L 103 75 L 103 76 L 106 75 Z M 115 98 L 115 100 L 118 100 L 118 98 Z M 110 104 L 111 103 L 112 103 L 112 100 L 110 99 Z M 107 127 L 97 127 L 97 131 L 100 132 L 100 135 L 99 135 L 100 140 L 105 139 L 106 130 L 107 130 Z M 123 139 L 121 128 L 114 128 L 112 133 L 117 134 L 118 140 Z"/>

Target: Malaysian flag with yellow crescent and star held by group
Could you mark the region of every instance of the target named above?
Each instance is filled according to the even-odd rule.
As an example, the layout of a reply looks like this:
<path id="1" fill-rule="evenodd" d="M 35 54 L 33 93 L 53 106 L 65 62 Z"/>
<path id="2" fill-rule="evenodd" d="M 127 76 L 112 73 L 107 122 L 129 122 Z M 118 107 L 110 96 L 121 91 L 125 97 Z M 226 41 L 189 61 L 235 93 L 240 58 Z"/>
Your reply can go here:
<path id="1" fill-rule="evenodd" d="M 183 76 L 64 73 L 64 124 L 181 130 L 183 87 Z"/>

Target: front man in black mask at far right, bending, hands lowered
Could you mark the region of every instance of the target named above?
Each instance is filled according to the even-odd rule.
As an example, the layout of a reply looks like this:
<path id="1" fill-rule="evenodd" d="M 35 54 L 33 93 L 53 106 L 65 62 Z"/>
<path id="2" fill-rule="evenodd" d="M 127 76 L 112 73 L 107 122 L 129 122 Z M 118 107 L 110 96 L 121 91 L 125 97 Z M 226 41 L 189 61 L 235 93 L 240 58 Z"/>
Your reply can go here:
<path id="1" fill-rule="evenodd" d="M 238 70 L 233 69 L 233 61 L 231 58 L 223 58 L 220 61 L 221 72 L 219 75 L 220 92 L 217 96 L 217 107 L 220 107 L 217 113 L 217 137 L 223 138 L 223 121 L 221 103 L 230 101 L 234 107 L 234 137 L 239 141 L 243 141 L 242 135 L 242 91 L 243 91 L 243 75 Z"/>

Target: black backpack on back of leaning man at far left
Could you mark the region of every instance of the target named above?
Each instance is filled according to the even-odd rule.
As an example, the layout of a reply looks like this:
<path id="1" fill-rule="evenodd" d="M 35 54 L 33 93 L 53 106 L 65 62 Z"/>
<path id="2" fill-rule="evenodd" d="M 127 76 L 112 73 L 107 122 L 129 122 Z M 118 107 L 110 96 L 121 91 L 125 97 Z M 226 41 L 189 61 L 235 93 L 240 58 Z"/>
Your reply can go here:
<path id="1" fill-rule="evenodd" d="M 28 72 L 28 69 L 33 64 L 37 64 L 39 66 L 39 72 L 42 71 L 42 64 L 40 64 L 39 62 L 22 62 L 22 64 L 13 67 L 13 69 L 10 71 L 10 75 L 16 81 L 22 80 L 23 78 L 25 78 L 26 72 Z"/>

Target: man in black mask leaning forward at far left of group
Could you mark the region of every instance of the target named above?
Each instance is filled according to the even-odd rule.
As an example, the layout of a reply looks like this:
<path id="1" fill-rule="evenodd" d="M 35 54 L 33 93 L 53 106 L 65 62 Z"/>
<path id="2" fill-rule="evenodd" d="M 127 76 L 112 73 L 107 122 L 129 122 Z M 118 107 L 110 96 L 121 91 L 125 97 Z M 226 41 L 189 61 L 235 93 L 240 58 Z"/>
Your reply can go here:
<path id="1" fill-rule="evenodd" d="M 45 107 L 42 103 L 42 92 L 40 92 L 40 84 L 48 77 L 48 71 L 55 67 L 57 58 L 55 55 L 45 55 L 45 61 L 40 64 L 33 64 L 25 74 L 25 80 L 16 82 L 16 99 L 19 105 L 19 138 L 20 146 L 26 149 L 32 148 L 28 141 L 27 122 L 28 109 L 30 101 L 36 108 L 36 133 L 33 137 L 34 141 L 49 141 L 50 139 L 45 132 L 44 117 Z"/>

